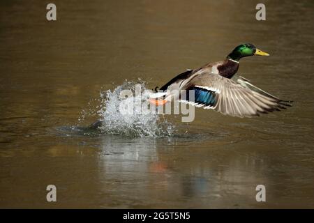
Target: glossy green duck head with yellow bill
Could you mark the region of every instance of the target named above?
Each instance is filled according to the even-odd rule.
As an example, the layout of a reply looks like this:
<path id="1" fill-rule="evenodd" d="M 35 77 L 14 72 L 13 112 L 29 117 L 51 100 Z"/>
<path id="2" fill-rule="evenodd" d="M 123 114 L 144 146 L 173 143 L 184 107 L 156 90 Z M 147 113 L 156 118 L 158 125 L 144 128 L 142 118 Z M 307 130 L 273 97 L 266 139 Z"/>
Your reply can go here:
<path id="1" fill-rule="evenodd" d="M 227 59 L 232 59 L 234 61 L 239 61 L 245 56 L 269 56 L 267 52 L 262 52 L 262 50 L 257 49 L 255 45 L 251 43 L 244 43 L 234 48 L 234 50 L 227 56 Z"/>

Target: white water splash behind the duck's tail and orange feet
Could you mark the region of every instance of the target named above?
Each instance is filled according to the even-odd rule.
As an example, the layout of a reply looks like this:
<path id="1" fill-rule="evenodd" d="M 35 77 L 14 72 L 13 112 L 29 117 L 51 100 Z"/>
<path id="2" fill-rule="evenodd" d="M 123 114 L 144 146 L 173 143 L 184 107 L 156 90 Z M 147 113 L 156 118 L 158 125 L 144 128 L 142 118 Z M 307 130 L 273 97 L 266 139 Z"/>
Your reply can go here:
<path id="1" fill-rule="evenodd" d="M 127 82 L 117 86 L 113 91 L 104 91 L 100 93 L 101 105 L 98 110 L 101 125 L 98 129 L 106 134 L 121 134 L 127 137 L 167 137 L 174 133 L 174 125 L 168 122 L 162 116 L 154 114 L 140 114 L 136 106 L 145 99 L 140 95 L 135 95 L 135 84 L 140 84 L 142 93 L 146 89 L 145 83 Z M 130 90 L 133 92 L 133 97 L 120 98 L 122 90 Z M 121 114 L 119 107 L 121 103 L 129 104 L 135 103 L 133 114 Z"/>

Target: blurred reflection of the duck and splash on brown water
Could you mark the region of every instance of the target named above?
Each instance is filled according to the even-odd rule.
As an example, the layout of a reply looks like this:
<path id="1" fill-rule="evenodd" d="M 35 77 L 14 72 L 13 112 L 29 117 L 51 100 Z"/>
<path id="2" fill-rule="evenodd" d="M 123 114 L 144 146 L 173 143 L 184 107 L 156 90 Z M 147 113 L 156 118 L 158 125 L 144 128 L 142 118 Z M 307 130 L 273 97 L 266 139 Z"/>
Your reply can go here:
<path id="1" fill-rule="evenodd" d="M 209 203 L 211 197 L 220 197 L 217 173 L 211 174 L 211 165 L 189 160 L 186 150 L 163 147 L 165 140 L 105 137 L 100 152 L 100 178 L 119 187 L 117 197 L 136 197 L 138 206 L 179 203 L 193 207 L 197 202 Z M 181 203 L 184 201 L 189 204 Z"/>

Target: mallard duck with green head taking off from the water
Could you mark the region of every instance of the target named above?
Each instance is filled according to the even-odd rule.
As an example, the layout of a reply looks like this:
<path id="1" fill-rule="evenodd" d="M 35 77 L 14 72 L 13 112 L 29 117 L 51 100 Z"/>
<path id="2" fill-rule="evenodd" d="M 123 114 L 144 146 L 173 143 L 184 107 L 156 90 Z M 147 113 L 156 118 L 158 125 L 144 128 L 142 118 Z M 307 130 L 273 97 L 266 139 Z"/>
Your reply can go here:
<path id="1" fill-rule="evenodd" d="M 281 100 L 257 88 L 248 79 L 235 75 L 240 59 L 253 55 L 269 56 L 250 43 L 241 44 L 224 61 L 207 63 L 201 68 L 177 75 L 160 88 L 162 92 L 153 93 L 149 102 L 164 105 L 171 100 L 179 100 L 238 117 L 259 116 L 291 107 L 292 101 Z M 178 93 L 181 90 L 186 90 L 186 95 Z M 194 91 L 194 97 L 189 90 Z"/>

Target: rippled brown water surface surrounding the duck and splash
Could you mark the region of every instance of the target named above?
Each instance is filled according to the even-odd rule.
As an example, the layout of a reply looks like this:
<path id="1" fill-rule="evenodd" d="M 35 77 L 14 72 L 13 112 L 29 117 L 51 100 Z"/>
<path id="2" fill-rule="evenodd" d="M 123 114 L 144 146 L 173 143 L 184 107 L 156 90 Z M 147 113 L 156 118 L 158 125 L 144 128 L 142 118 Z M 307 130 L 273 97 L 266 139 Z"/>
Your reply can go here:
<path id="1" fill-rule="evenodd" d="M 313 1 L 264 1 L 265 22 L 259 1 L 54 3 L 47 22 L 43 1 L 0 1 L 1 208 L 314 208 Z M 193 123 L 166 117 L 170 137 L 84 128 L 100 91 L 161 86 L 244 42 L 271 56 L 242 59 L 241 75 L 294 107 L 197 109 Z"/>

